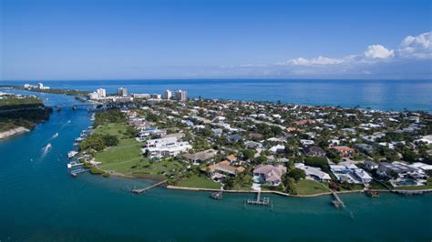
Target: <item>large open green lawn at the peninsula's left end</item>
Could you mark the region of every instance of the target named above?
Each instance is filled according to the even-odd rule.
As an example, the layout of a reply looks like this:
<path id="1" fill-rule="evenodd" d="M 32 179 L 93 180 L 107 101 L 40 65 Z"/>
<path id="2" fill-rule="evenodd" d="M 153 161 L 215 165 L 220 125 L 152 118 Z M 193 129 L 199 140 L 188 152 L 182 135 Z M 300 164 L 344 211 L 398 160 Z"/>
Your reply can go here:
<path id="1" fill-rule="evenodd" d="M 102 164 L 99 167 L 105 171 L 131 176 L 146 176 L 164 178 L 182 170 L 182 164 L 177 161 L 161 160 L 151 162 L 148 157 L 142 155 L 139 143 L 134 138 L 125 135 L 126 125 L 108 124 L 98 126 L 96 134 L 108 134 L 118 136 L 118 146 L 109 147 L 95 154 L 97 161 Z"/>

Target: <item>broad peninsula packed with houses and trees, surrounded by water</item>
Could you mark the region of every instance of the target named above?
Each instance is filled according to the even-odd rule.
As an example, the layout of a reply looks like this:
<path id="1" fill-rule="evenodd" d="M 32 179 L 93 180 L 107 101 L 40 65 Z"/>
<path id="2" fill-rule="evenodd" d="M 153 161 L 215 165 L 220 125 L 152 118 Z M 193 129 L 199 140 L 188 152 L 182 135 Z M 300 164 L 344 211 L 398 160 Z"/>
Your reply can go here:
<path id="1" fill-rule="evenodd" d="M 432 189 L 426 112 L 140 97 L 98 98 L 111 109 L 77 143 L 90 173 L 297 197 Z"/>

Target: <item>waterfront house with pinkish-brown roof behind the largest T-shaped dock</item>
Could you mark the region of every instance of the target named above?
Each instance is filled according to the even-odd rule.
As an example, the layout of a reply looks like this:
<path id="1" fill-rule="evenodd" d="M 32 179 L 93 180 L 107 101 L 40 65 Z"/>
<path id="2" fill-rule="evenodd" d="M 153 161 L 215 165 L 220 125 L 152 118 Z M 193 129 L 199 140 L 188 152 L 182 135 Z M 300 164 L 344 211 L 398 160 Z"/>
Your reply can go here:
<path id="1" fill-rule="evenodd" d="M 253 181 L 270 186 L 279 186 L 284 173 L 286 173 L 286 167 L 282 165 L 255 166 L 253 169 Z"/>

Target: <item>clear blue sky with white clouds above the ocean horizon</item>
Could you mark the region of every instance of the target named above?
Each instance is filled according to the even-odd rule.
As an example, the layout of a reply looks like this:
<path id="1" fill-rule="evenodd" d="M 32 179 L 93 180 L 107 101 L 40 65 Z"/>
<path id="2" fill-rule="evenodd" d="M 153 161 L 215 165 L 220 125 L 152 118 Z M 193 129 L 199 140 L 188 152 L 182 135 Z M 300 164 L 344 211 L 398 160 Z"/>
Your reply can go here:
<path id="1" fill-rule="evenodd" d="M 432 79 L 430 1 L 0 0 L 0 79 Z"/>

